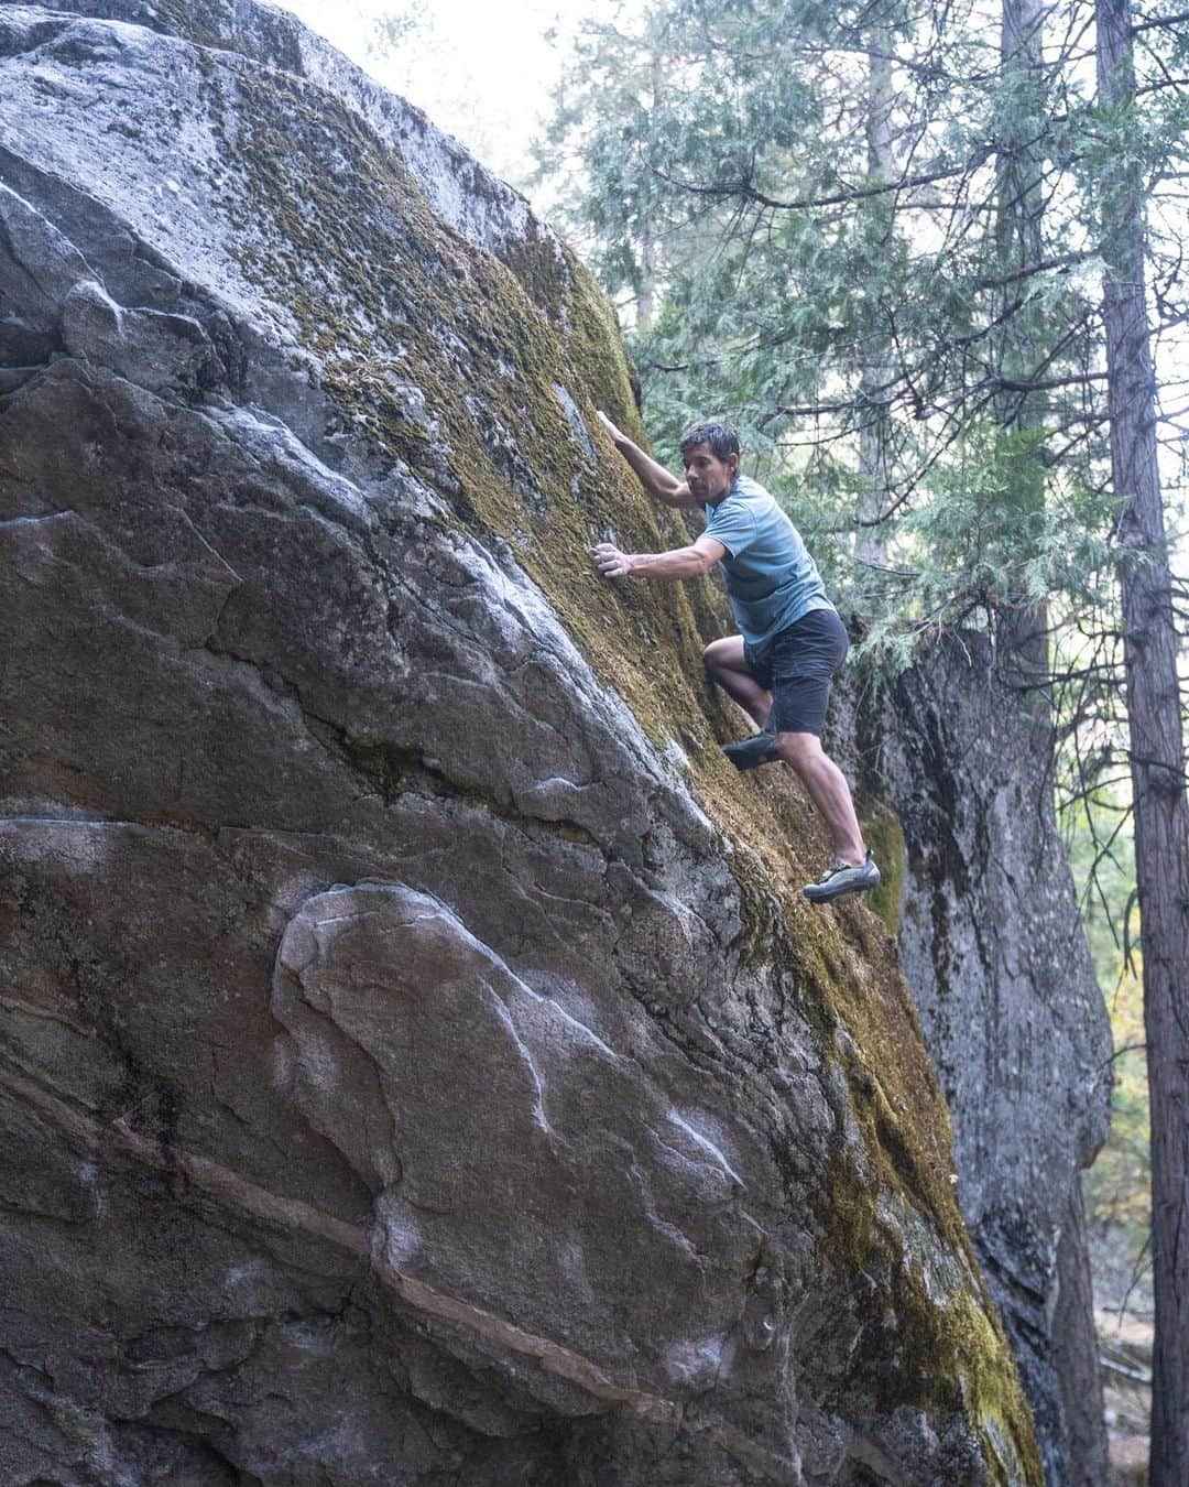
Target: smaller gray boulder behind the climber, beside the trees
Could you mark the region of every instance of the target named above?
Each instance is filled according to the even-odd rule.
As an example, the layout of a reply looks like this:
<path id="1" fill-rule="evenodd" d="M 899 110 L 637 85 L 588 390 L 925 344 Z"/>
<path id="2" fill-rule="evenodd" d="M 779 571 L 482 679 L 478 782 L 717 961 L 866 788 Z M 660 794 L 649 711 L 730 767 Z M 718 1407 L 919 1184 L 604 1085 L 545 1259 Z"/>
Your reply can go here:
<path id="1" fill-rule="evenodd" d="M 1085 1481 L 1078 1463 L 1104 1459 L 1106 1426 L 1075 1190 L 1107 1135 L 1112 1038 L 1057 830 L 1049 726 L 1005 654 L 982 632 L 939 641 L 895 686 L 852 688 L 840 742 L 902 830 L 884 834 L 902 857 L 901 959 L 1046 1477 Z"/>

